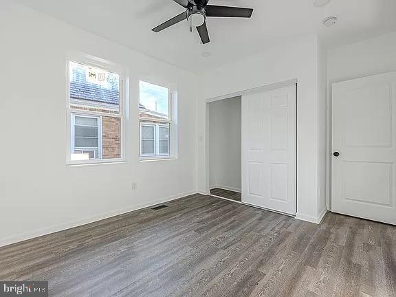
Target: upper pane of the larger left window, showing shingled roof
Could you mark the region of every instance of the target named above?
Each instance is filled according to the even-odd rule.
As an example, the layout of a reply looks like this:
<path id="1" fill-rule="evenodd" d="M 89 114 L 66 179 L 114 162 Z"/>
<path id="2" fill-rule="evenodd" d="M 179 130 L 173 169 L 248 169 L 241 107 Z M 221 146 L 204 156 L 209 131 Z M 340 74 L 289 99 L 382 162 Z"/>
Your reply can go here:
<path id="1" fill-rule="evenodd" d="M 120 112 L 120 76 L 104 69 L 69 63 L 70 105 L 74 109 Z"/>

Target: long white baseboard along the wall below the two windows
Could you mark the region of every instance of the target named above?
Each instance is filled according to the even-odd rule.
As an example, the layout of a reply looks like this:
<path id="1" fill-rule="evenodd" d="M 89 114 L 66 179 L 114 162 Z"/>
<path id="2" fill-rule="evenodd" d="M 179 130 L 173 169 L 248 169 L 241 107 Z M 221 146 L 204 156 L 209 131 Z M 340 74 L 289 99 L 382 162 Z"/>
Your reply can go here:
<path id="1" fill-rule="evenodd" d="M 108 219 L 109 217 L 115 217 L 117 215 L 124 214 L 126 212 L 131 212 L 133 210 L 140 210 L 142 208 L 147 208 L 149 206 L 155 206 L 156 204 L 159 204 L 159 203 L 165 203 L 165 202 L 168 202 L 168 201 L 172 201 L 172 200 L 179 199 L 179 198 L 186 197 L 188 195 L 193 195 L 193 194 L 197 194 L 197 191 L 196 190 L 191 190 L 189 192 L 184 192 L 184 193 L 180 193 L 180 194 L 177 194 L 177 195 L 164 197 L 162 199 L 156 199 L 156 200 L 151 201 L 149 203 L 143 203 L 143 204 L 140 204 L 140 205 L 137 205 L 137 206 L 131 206 L 129 208 L 123 208 L 123 209 L 120 209 L 120 210 L 112 210 L 111 212 L 98 214 L 98 215 L 96 215 L 94 217 L 89 217 L 89 218 L 80 219 L 80 220 L 77 220 L 77 221 L 71 221 L 71 222 L 60 224 L 60 225 L 51 226 L 49 228 L 43 228 L 43 229 L 39 229 L 39 230 L 34 230 L 34 231 L 22 233 L 22 234 L 8 236 L 8 237 L 5 237 L 3 239 L 0 239 L 0 247 L 5 246 L 5 245 L 10 245 L 12 243 L 18 243 L 20 241 L 25 241 L 25 240 L 28 240 L 28 239 L 33 239 L 35 237 L 51 234 L 51 233 L 54 233 L 54 232 L 67 230 L 67 229 L 70 229 L 70 228 L 75 228 L 75 227 L 78 227 L 80 225 L 85 225 L 87 223 L 94 223 L 94 222 L 100 221 L 102 219 Z"/>

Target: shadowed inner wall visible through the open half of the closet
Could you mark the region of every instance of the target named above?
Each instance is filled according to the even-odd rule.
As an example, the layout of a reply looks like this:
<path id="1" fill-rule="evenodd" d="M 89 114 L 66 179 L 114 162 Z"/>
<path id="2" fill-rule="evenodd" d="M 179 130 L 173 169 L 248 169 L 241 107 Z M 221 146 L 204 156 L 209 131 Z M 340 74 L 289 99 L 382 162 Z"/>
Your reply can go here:
<path id="1" fill-rule="evenodd" d="M 241 97 L 208 105 L 210 188 L 241 191 Z"/>

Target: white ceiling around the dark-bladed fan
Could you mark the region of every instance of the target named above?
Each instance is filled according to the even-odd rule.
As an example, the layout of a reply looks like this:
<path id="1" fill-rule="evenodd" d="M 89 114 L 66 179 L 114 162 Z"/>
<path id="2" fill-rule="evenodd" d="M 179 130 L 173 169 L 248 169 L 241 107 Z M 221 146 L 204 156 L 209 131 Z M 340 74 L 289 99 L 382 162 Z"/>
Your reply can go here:
<path id="1" fill-rule="evenodd" d="M 210 0 L 210 4 L 254 8 L 252 19 L 208 18 L 210 43 L 201 45 L 188 22 L 162 32 L 159 23 L 183 12 L 173 0 L 14 0 L 56 19 L 94 32 L 190 71 L 202 72 L 265 50 L 276 41 L 318 32 L 328 48 L 396 31 L 396 0 Z M 336 26 L 322 21 L 336 16 Z M 202 52 L 212 56 L 203 58 Z"/>

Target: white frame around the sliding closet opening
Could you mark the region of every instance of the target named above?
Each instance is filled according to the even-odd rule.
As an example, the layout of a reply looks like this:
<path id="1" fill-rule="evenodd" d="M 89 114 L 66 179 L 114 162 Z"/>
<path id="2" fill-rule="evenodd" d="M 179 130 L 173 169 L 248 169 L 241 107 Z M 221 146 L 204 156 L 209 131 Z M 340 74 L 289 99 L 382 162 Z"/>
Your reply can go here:
<path id="1" fill-rule="evenodd" d="M 238 97 L 238 96 L 244 96 L 244 95 L 248 95 L 248 94 L 256 94 L 256 93 L 261 93 L 263 91 L 270 91 L 272 89 L 281 89 L 283 87 L 291 87 L 293 85 L 296 85 L 296 212 L 298 210 L 298 193 L 297 193 L 297 185 L 298 185 L 298 148 L 297 148 L 297 143 L 298 143 L 298 79 L 294 78 L 291 80 L 285 80 L 283 82 L 280 83 L 274 83 L 274 84 L 270 84 L 270 85 L 263 85 L 261 87 L 255 87 L 252 89 L 245 89 L 245 90 L 241 90 L 241 91 L 236 91 L 234 93 L 230 93 L 230 94 L 224 94 L 221 96 L 217 96 L 217 97 L 213 97 L 213 98 L 209 98 L 206 99 L 205 102 L 205 109 L 206 109 L 206 119 L 205 119 L 205 129 L 206 129 L 206 133 L 205 133 L 205 178 L 206 178 L 206 194 L 210 195 L 210 170 L 209 170 L 209 160 L 210 160 L 210 149 L 209 149 L 209 144 L 210 144 L 210 140 L 209 140 L 209 128 L 210 128 L 210 122 L 209 122 L 209 117 L 207 116 L 209 114 L 209 104 L 210 102 L 215 102 L 215 101 L 219 101 L 219 100 L 226 100 L 226 99 L 230 99 L 230 98 L 234 98 L 234 97 Z M 212 195 L 215 196 L 215 195 Z M 215 196 L 218 197 L 218 196 Z M 219 197 L 219 198 L 223 198 L 223 197 Z M 226 199 L 226 198 L 223 198 Z M 228 200 L 228 199 L 226 199 Z M 243 203 L 243 202 L 239 202 L 239 201 L 234 201 L 237 203 L 241 203 L 244 205 L 248 205 L 248 206 L 253 206 L 250 205 L 248 203 Z M 259 206 L 253 206 L 255 208 L 260 208 Z M 265 209 L 265 208 L 262 208 Z M 270 210 L 272 212 L 277 212 L 275 210 Z M 285 214 L 283 212 L 278 212 L 281 214 Z M 285 214 L 287 216 L 291 216 L 291 217 L 295 217 L 292 216 L 291 214 Z"/>

